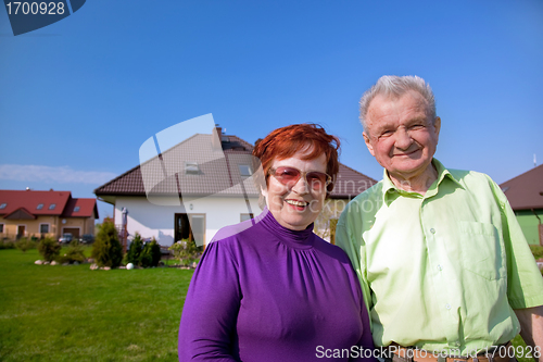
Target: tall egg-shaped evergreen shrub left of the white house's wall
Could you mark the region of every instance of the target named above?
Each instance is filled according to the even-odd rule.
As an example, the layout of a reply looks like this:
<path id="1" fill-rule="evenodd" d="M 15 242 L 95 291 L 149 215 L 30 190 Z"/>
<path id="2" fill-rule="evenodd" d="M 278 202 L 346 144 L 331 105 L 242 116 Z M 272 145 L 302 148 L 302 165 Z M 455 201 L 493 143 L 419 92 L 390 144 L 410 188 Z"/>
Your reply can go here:
<path id="1" fill-rule="evenodd" d="M 117 230 L 111 221 L 103 222 L 92 245 L 92 258 L 100 266 L 116 267 L 123 261 L 123 247 L 118 242 Z"/>

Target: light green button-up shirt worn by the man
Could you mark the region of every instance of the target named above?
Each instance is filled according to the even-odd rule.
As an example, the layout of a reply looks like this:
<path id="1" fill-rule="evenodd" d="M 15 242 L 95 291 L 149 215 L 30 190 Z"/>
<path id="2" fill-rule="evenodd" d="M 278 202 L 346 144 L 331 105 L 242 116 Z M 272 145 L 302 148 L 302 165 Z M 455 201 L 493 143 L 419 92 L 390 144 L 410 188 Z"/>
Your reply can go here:
<path id="1" fill-rule="evenodd" d="M 446 170 L 425 196 L 383 180 L 352 200 L 337 244 L 358 273 L 376 346 L 466 355 L 513 339 L 513 309 L 543 304 L 543 278 L 500 187 Z"/>

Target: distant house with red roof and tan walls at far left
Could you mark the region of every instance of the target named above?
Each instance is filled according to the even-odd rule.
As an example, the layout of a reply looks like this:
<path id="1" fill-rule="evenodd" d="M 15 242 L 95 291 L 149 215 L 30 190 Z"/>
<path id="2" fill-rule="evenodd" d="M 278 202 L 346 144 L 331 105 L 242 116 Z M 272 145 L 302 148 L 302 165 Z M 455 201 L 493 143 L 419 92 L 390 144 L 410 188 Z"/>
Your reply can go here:
<path id="1" fill-rule="evenodd" d="M 94 234 L 96 199 L 74 199 L 70 191 L 0 190 L 0 237 L 75 238 Z"/>

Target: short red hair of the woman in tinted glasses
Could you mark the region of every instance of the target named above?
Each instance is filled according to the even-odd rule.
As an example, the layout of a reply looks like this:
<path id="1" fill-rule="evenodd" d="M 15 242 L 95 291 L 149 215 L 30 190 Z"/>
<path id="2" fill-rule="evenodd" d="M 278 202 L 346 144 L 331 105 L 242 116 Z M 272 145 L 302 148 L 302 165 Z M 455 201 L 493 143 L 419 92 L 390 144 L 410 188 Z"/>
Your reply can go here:
<path id="1" fill-rule="evenodd" d="M 289 159 L 295 153 L 302 152 L 304 155 L 301 159 L 308 161 L 315 160 L 324 153 L 326 155 L 326 173 L 332 177 L 332 182 L 327 187 L 328 197 L 333 190 L 336 176 L 339 171 L 339 149 L 340 141 L 338 137 L 328 135 L 326 130 L 317 124 L 304 123 L 273 130 L 266 138 L 256 141 L 253 149 L 253 155 L 262 163 L 267 186 L 269 177 L 268 171 L 274 160 Z M 258 166 L 255 166 L 254 170 Z"/>

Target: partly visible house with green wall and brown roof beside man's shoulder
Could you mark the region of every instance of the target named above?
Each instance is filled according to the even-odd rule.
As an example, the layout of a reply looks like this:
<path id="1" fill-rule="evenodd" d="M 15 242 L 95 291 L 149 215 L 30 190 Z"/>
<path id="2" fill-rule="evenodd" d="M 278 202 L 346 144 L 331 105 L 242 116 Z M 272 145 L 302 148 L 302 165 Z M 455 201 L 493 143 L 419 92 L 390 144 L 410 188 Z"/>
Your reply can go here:
<path id="1" fill-rule="evenodd" d="M 543 165 L 500 185 L 515 211 L 528 244 L 543 245 Z"/>

